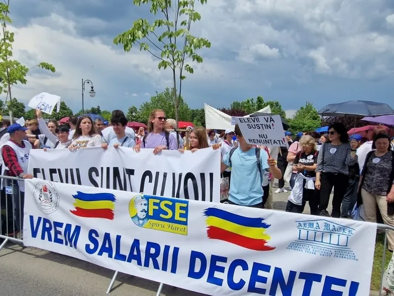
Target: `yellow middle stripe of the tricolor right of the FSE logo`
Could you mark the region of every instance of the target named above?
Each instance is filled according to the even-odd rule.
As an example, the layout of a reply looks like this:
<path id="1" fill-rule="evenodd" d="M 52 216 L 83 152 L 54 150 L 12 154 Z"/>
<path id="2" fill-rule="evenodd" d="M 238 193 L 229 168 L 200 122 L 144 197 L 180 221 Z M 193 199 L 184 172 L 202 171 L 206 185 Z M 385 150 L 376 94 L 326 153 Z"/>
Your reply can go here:
<path id="1" fill-rule="evenodd" d="M 260 227 L 243 226 L 213 216 L 208 217 L 206 223 L 209 226 L 221 228 L 231 233 L 240 233 L 242 236 L 248 238 L 263 239 L 266 241 L 271 239 L 268 234 L 264 234 L 265 229 Z"/>

